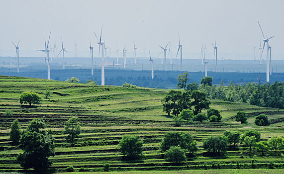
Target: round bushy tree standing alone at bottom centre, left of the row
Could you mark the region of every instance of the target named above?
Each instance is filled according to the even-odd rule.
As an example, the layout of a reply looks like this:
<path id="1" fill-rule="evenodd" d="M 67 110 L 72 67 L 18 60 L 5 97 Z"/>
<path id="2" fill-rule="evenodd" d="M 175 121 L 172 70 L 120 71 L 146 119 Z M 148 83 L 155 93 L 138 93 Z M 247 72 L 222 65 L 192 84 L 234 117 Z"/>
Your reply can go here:
<path id="1" fill-rule="evenodd" d="M 139 136 L 126 135 L 122 137 L 118 149 L 128 159 L 137 159 L 143 155 L 142 146 L 143 142 Z"/>

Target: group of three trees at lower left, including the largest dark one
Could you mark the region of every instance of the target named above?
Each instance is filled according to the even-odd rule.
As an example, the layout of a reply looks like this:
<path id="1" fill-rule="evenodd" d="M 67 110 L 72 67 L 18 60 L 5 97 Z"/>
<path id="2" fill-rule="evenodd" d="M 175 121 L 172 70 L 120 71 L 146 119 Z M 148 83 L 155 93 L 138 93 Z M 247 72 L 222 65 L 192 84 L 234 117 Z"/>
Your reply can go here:
<path id="1" fill-rule="evenodd" d="M 55 156 L 53 132 L 44 128 L 45 122 L 42 118 L 31 120 L 23 132 L 20 131 L 18 120 L 13 121 L 9 139 L 12 145 L 19 145 L 24 151 L 17 156 L 17 162 L 22 168 L 44 171 L 52 164 L 48 158 Z M 73 143 L 74 139 L 78 138 L 81 128 L 77 117 L 72 117 L 66 122 L 63 133 L 68 134 L 68 142 Z"/>

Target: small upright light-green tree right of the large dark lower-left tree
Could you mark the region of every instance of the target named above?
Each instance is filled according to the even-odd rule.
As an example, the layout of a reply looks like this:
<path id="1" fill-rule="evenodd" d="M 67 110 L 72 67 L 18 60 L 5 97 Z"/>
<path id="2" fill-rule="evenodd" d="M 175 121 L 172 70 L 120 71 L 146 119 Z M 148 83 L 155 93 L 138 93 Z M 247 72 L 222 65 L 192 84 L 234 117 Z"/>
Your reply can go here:
<path id="1" fill-rule="evenodd" d="M 73 143 L 75 138 L 78 138 L 78 135 L 81 133 L 80 122 L 78 121 L 78 117 L 72 117 L 64 126 L 63 134 L 69 134 L 66 139 L 68 142 Z"/>

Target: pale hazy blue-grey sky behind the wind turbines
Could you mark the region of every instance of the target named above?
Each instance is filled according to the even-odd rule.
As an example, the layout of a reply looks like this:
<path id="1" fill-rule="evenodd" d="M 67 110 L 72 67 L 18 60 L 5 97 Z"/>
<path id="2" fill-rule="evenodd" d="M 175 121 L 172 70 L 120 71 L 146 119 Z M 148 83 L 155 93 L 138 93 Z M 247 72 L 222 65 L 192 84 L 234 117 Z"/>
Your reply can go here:
<path id="1" fill-rule="evenodd" d="M 211 43 L 217 40 L 218 52 L 230 57 L 253 54 L 262 34 L 271 39 L 273 54 L 284 55 L 284 0 L 0 0 L 0 48 L 2 56 L 13 56 L 11 41 L 21 39 L 20 56 L 38 56 L 44 38 L 51 31 L 51 47 L 60 50 L 61 36 L 66 56 L 89 56 L 91 38 L 97 54 L 95 34 L 103 25 L 103 39 L 121 50 L 126 43 L 127 56 L 132 56 L 133 41 L 138 56 L 144 48 L 159 56 L 159 44 L 171 39 L 173 55 L 178 48 L 178 32 L 185 57 L 198 58 L 202 44 L 212 58 Z M 262 43 L 263 44 L 263 43 Z M 257 48 L 258 50 L 258 48 Z M 225 54 L 226 53 L 226 54 Z M 258 54 L 258 52 L 257 52 Z"/>

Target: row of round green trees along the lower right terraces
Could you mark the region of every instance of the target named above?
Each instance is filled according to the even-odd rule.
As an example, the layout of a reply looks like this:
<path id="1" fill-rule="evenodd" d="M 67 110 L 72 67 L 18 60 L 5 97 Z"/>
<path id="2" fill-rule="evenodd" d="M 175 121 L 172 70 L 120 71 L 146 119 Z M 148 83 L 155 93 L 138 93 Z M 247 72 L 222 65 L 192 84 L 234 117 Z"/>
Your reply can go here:
<path id="1" fill-rule="evenodd" d="M 265 153 L 269 149 L 277 152 L 284 149 L 283 137 L 272 137 L 268 141 L 260 141 L 261 134 L 256 130 L 245 132 L 242 136 L 240 132 L 225 131 L 223 135 L 210 136 L 203 140 L 202 148 L 210 156 L 220 156 L 227 152 L 227 148 L 233 147 L 237 150 L 237 144 L 243 144 L 249 150 L 249 155 L 254 151 Z M 141 159 L 143 157 L 143 142 L 138 136 L 124 136 L 118 145 L 118 149 L 126 159 Z M 192 157 L 198 151 L 197 142 L 193 140 L 189 133 L 169 132 L 161 142 L 160 152 L 164 153 L 165 161 L 179 163 L 186 161 L 187 157 Z"/>

